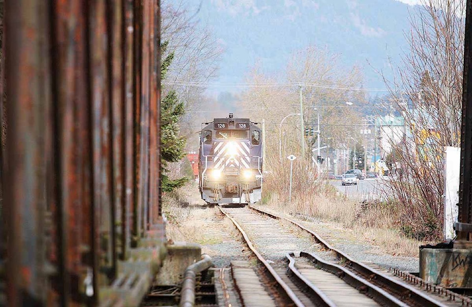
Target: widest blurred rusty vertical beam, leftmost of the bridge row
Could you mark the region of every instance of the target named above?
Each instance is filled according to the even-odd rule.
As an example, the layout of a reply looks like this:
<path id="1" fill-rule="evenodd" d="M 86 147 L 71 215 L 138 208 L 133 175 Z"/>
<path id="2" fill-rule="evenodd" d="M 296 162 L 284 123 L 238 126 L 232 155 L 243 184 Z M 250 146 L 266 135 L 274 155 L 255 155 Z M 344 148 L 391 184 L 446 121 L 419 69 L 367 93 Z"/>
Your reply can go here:
<path id="1" fill-rule="evenodd" d="M 8 137 L 4 190 L 8 219 L 8 306 L 45 305 L 43 132 L 51 104 L 48 84 L 49 1 L 5 3 Z M 46 61 L 45 61 L 46 59 Z"/>

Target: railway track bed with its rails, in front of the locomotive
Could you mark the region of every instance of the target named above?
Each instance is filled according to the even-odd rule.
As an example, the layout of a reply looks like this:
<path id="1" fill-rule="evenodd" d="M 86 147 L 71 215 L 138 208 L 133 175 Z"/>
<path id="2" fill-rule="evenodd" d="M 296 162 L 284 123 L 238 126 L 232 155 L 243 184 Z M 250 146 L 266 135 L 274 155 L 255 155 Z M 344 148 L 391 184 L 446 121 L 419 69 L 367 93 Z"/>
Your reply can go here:
<path id="1" fill-rule="evenodd" d="M 445 289 L 425 291 L 431 287 L 414 276 L 356 262 L 293 219 L 254 207 L 219 209 L 256 256 L 278 306 L 472 306 Z M 240 295 L 244 301 L 250 293 Z"/>

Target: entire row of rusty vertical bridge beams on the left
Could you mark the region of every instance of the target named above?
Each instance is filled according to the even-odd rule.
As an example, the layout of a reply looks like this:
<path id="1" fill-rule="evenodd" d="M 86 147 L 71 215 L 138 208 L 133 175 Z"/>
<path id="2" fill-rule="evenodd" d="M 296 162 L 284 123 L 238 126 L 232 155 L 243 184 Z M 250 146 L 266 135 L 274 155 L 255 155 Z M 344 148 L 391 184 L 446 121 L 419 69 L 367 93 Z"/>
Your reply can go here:
<path id="1" fill-rule="evenodd" d="M 8 306 L 115 302 L 118 263 L 165 240 L 159 14 L 159 0 L 6 1 Z"/>

